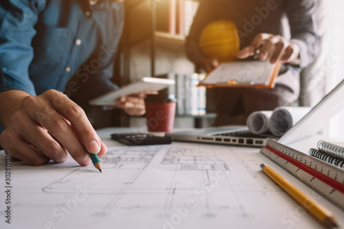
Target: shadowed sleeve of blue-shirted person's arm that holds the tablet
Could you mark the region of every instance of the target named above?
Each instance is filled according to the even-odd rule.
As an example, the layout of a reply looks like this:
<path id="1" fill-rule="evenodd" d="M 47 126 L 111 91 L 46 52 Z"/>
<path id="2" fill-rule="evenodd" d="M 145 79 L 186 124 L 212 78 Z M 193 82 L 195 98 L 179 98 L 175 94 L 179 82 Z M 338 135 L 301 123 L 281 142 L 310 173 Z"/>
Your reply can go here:
<path id="1" fill-rule="evenodd" d="M 92 61 L 98 60 L 101 63 L 101 67 L 96 70 L 89 69 L 87 73 L 82 68 L 76 72 L 76 76 L 78 76 L 78 74 L 85 75 L 83 77 L 78 77 L 83 81 L 83 87 L 80 87 L 80 94 L 83 95 L 83 100 L 89 101 L 99 96 L 103 96 L 109 91 L 118 89 L 118 86 L 112 83 L 111 78 L 114 77 L 114 61 L 124 25 L 125 9 L 122 3 L 118 3 L 114 17 L 116 17 L 113 25 L 115 29 L 111 37 L 111 42 L 100 45 L 100 47 L 94 51 L 94 55 L 92 55 L 83 65 L 89 66 Z"/>

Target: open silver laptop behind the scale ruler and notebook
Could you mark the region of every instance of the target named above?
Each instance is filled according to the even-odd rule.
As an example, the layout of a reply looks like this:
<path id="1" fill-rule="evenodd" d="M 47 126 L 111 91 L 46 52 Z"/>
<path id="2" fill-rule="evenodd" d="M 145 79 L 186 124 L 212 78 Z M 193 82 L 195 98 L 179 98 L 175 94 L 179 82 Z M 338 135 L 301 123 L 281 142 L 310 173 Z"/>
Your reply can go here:
<path id="1" fill-rule="evenodd" d="M 310 112 L 294 124 L 280 138 L 282 144 L 290 144 L 321 131 L 328 121 L 344 108 L 344 80 L 330 91 Z M 166 133 L 174 141 L 228 144 L 234 146 L 263 147 L 267 137 L 255 135 L 245 126 L 209 127 L 191 131 Z"/>

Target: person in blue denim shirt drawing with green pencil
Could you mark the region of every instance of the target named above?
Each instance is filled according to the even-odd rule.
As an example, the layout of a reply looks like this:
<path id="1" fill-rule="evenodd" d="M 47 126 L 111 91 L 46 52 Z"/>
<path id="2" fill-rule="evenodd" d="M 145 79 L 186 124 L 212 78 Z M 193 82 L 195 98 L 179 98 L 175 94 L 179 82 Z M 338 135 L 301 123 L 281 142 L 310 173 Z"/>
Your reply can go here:
<path id="1" fill-rule="evenodd" d="M 110 78 L 122 34 L 123 0 L 0 1 L 0 144 L 31 165 L 82 166 L 107 147 L 83 109 L 67 96 L 80 86 L 89 99 L 117 89 Z M 83 85 L 68 82 L 76 76 Z M 63 94 L 61 91 L 65 91 Z M 144 95 L 116 106 L 142 115 Z"/>

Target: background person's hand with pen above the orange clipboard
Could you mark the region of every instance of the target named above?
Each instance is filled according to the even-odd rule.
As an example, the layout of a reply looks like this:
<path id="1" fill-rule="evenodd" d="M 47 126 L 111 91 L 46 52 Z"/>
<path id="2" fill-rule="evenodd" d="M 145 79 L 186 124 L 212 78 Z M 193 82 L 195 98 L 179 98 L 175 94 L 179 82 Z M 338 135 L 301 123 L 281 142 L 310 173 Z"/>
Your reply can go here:
<path id="1" fill-rule="evenodd" d="M 268 60 L 272 64 L 281 61 L 299 65 L 299 45 L 274 34 L 258 34 L 248 47 L 244 47 L 237 53 L 237 58 L 244 59 L 254 56 L 257 49 L 260 51 L 259 61 Z"/>

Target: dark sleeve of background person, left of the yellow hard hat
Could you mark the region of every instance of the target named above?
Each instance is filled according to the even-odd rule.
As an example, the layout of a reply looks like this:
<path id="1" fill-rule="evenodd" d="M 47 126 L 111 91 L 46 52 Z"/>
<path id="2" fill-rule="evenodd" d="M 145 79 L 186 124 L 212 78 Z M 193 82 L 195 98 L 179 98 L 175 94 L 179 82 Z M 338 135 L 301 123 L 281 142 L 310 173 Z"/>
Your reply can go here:
<path id="1" fill-rule="evenodd" d="M 217 14 L 213 14 L 213 12 L 217 12 L 217 9 L 214 9 L 217 5 L 218 4 L 214 4 L 212 1 L 200 2 L 200 6 L 190 28 L 189 36 L 186 37 L 186 55 L 195 65 L 200 63 L 202 58 L 206 57 L 202 54 L 198 43 L 201 33 L 206 25 L 213 21 L 217 21 Z"/>

